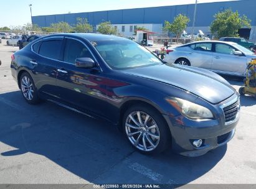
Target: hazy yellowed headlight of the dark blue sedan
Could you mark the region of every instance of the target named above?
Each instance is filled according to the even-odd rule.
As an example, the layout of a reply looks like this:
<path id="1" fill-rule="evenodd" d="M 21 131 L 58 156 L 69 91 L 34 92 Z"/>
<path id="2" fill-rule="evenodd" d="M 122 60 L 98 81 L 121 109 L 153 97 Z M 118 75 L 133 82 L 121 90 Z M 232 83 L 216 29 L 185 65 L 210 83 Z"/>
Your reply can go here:
<path id="1" fill-rule="evenodd" d="M 180 98 L 166 98 L 166 101 L 189 119 L 214 118 L 212 112 L 204 106 Z"/>

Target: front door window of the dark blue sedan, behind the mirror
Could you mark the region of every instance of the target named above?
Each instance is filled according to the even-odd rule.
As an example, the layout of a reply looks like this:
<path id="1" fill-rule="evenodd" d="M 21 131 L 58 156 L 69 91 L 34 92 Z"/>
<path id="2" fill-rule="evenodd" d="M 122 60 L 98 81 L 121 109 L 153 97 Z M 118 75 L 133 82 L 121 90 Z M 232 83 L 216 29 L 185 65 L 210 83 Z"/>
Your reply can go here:
<path id="1" fill-rule="evenodd" d="M 85 45 L 78 40 L 67 39 L 64 50 L 64 62 L 75 64 L 77 58 L 93 58 Z"/>

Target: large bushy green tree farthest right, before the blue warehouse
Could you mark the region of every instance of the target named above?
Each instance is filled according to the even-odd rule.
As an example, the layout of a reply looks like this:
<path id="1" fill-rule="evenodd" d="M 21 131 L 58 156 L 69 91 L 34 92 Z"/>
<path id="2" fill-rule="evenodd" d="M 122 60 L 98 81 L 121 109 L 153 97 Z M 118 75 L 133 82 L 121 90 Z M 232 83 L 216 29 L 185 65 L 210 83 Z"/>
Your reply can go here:
<path id="1" fill-rule="evenodd" d="M 214 15 L 214 21 L 210 25 L 210 30 L 214 37 L 239 37 L 238 30 L 242 27 L 251 27 L 250 19 L 247 16 L 240 16 L 238 11 L 233 12 L 227 9 Z"/>

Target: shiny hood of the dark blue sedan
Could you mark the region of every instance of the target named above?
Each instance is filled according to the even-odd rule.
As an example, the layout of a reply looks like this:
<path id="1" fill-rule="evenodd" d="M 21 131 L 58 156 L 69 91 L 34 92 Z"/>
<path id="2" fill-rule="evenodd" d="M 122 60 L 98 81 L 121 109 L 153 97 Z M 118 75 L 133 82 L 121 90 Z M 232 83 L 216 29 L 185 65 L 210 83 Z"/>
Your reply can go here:
<path id="1" fill-rule="evenodd" d="M 176 86 L 212 104 L 220 103 L 235 93 L 234 88 L 224 78 L 201 68 L 164 64 L 122 72 Z"/>

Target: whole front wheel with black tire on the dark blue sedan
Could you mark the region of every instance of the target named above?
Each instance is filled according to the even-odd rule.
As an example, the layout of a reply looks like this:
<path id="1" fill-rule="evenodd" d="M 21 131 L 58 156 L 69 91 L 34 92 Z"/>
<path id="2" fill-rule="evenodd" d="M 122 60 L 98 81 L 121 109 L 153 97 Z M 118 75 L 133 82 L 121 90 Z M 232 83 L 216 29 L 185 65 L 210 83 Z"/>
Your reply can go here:
<path id="1" fill-rule="evenodd" d="M 159 154 L 171 144 L 171 134 L 163 116 L 145 104 L 127 109 L 123 116 L 123 131 L 141 154 Z"/>

